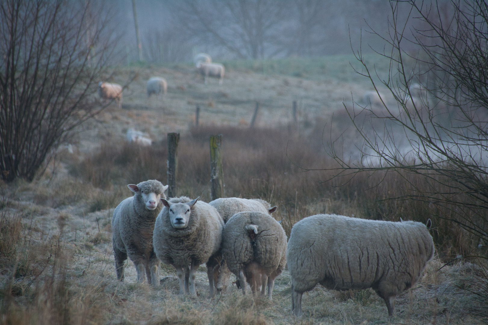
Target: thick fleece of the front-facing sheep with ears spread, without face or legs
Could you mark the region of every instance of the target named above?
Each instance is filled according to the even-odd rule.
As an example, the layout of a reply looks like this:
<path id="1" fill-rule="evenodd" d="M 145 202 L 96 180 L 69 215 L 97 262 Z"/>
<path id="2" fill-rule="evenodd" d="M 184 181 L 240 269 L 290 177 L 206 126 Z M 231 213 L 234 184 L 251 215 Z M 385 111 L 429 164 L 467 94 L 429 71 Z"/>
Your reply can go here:
<path id="1" fill-rule="evenodd" d="M 187 197 L 172 198 L 171 203 L 188 203 Z M 203 201 L 191 208 L 188 226 L 175 229 L 169 220 L 169 210 L 164 207 L 154 226 L 154 251 L 164 264 L 203 264 L 220 253 L 224 221 L 217 210 Z"/>

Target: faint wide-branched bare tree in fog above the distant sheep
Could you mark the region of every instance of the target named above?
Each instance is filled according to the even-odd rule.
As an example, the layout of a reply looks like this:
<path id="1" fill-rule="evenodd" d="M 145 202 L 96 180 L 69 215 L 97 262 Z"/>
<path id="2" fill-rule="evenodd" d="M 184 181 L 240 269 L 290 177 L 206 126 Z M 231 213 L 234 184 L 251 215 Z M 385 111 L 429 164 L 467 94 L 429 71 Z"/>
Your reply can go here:
<path id="1" fill-rule="evenodd" d="M 287 14 L 281 0 L 184 0 L 174 12 L 189 34 L 239 58 L 272 57 Z"/>

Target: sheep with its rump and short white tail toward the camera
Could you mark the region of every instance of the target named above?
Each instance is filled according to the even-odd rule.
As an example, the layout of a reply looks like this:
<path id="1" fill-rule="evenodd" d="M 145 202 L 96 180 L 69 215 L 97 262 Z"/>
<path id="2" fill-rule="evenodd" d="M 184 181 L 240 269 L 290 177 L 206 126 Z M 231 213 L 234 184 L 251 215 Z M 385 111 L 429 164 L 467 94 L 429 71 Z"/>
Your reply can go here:
<path id="1" fill-rule="evenodd" d="M 267 281 L 267 296 L 272 300 L 274 280 L 286 265 L 285 230 L 268 213 L 236 213 L 224 226 L 222 257 L 239 279 L 243 294 L 246 281 L 253 294 L 264 294 Z"/>

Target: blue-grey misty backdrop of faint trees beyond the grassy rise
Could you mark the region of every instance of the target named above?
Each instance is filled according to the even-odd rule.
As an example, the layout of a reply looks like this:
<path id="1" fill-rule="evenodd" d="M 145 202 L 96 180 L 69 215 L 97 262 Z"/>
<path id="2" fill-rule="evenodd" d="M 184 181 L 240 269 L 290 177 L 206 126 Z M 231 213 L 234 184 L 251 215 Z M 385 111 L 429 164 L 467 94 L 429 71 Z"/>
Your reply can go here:
<path id="1" fill-rule="evenodd" d="M 139 61 L 133 1 L 111 6 L 120 37 L 114 59 Z M 135 7 L 147 63 L 191 61 L 199 52 L 217 60 L 351 54 L 361 41 L 364 52 L 381 51 L 385 42 L 368 31 L 387 35 L 391 16 L 382 0 L 135 0 Z"/>

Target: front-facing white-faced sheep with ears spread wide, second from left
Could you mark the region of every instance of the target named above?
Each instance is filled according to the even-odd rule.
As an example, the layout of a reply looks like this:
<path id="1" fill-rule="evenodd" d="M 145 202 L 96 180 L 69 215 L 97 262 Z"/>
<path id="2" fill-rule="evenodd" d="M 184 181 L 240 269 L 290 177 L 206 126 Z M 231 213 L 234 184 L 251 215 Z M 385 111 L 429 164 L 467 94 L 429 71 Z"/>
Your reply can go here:
<path id="1" fill-rule="evenodd" d="M 206 263 L 213 296 L 224 221 L 213 206 L 198 199 L 161 199 L 164 207 L 156 218 L 153 245 L 158 259 L 176 269 L 182 295 L 196 296 L 195 273 L 200 264 Z"/>

